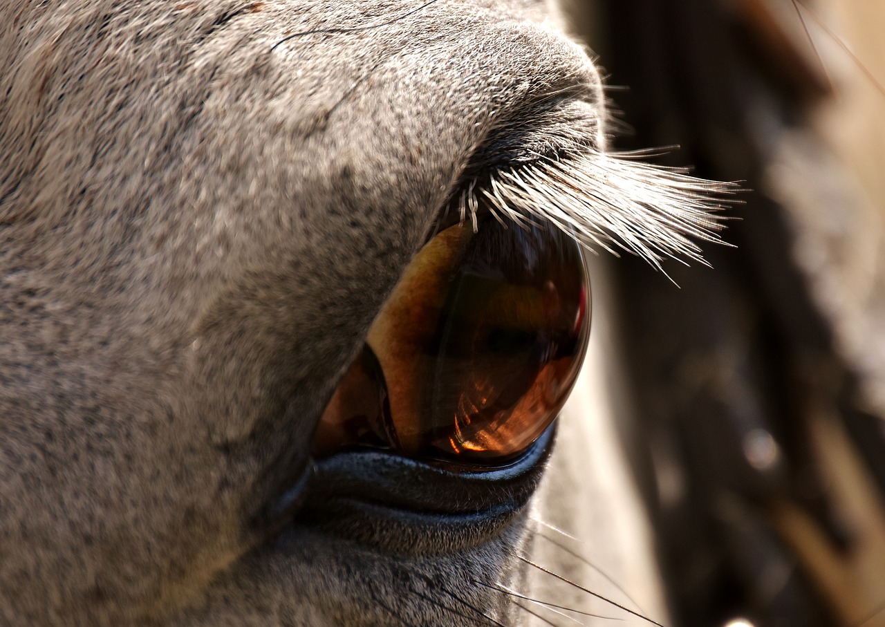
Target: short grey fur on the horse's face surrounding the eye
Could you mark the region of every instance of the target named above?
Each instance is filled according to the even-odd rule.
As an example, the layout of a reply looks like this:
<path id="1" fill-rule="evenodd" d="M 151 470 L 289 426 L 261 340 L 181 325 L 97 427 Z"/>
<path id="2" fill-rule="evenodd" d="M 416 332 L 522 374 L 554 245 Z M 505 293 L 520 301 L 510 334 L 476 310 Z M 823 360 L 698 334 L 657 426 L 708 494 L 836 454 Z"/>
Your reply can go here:
<path id="1" fill-rule="evenodd" d="M 465 173 L 604 149 L 543 4 L 418 4 L 0 4 L 0 623 L 510 620 L 519 522 L 252 524 Z"/>

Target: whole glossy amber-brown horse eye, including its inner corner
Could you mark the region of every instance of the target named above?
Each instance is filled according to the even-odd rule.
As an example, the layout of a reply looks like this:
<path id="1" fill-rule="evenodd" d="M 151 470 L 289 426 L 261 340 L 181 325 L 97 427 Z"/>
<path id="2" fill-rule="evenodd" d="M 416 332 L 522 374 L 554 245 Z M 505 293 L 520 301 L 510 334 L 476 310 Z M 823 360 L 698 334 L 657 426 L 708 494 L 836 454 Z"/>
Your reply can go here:
<path id="1" fill-rule="evenodd" d="M 450 226 L 373 322 L 319 422 L 314 455 L 383 447 L 506 463 L 562 408 L 589 318 L 581 249 L 558 229 Z"/>

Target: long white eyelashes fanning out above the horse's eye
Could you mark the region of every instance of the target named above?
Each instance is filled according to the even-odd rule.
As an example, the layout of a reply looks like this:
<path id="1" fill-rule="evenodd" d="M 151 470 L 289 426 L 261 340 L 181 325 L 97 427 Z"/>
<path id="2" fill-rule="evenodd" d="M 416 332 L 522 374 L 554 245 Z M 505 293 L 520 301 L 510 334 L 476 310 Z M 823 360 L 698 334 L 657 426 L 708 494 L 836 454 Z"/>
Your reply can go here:
<path id="1" fill-rule="evenodd" d="M 496 172 L 460 198 L 462 221 L 481 199 L 489 210 L 517 225 L 550 221 L 585 248 L 618 255 L 617 248 L 661 269 L 674 258 L 706 264 L 695 240 L 721 243 L 723 218 L 717 211 L 740 191 L 734 183 L 697 179 L 689 174 L 633 160 L 631 154 L 588 149 L 561 161 L 539 158 Z"/>

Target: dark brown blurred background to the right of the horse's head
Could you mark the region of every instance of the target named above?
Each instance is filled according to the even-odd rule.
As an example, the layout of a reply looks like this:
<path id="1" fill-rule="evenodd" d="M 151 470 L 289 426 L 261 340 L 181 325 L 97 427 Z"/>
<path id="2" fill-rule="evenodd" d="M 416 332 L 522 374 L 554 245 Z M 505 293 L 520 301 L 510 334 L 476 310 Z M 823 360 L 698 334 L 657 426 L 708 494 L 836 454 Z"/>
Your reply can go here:
<path id="1" fill-rule="evenodd" d="M 885 3 L 803 1 L 566 7 L 613 149 L 750 190 L 679 289 L 613 266 L 674 626 L 885 625 Z"/>

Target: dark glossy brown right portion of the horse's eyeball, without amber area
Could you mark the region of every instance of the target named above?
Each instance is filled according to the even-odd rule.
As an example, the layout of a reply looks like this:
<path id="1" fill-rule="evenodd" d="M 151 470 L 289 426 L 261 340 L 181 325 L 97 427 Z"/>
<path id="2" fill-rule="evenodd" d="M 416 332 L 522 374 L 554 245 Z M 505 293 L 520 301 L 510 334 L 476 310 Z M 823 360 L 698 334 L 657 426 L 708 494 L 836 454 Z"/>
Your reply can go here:
<path id="1" fill-rule="evenodd" d="M 552 228 L 486 221 L 439 318 L 424 455 L 519 455 L 558 414 L 587 336 L 583 260 Z"/>

